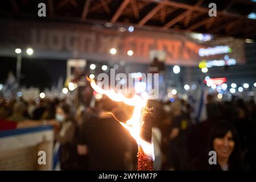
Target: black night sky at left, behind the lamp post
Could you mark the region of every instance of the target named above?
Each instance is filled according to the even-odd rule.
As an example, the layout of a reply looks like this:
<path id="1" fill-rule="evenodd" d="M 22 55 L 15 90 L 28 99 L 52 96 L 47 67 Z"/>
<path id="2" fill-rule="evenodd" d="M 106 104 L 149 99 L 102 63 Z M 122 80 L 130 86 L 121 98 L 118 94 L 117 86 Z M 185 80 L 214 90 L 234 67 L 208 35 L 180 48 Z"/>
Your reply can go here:
<path id="1" fill-rule="evenodd" d="M 57 85 L 59 77 L 66 77 L 66 60 L 22 59 L 20 83 L 22 86 L 35 86 L 43 90 Z M 0 57 L 0 84 L 6 82 L 8 73 L 16 75 L 16 58 Z"/>

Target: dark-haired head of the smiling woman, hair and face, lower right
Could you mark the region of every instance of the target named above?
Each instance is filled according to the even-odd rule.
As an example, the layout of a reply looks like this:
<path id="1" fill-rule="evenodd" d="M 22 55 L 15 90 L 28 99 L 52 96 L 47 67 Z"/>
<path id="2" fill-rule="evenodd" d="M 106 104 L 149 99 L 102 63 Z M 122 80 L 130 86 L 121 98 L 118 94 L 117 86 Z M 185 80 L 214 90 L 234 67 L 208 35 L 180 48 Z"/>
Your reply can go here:
<path id="1" fill-rule="evenodd" d="M 226 159 L 229 164 L 241 161 L 238 135 L 231 123 L 218 121 L 210 133 L 209 145 L 208 150 L 216 151 L 217 159 Z"/>

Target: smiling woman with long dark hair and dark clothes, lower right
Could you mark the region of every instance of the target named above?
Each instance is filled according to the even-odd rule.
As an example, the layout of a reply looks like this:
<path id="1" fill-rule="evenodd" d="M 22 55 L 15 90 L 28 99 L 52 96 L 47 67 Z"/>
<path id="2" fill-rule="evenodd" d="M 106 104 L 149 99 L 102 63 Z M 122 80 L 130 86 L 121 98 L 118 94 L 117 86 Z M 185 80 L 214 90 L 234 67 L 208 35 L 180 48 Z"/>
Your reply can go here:
<path id="1" fill-rule="evenodd" d="M 216 151 L 217 164 L 209 164 L 209 151 Z M 249 170 L 241 154 L 237 131 L 231 123 L 218 121 L 212 127 L 207 150 L 201 159 L 192 164 L 192 168 L 207 171 Z"/>

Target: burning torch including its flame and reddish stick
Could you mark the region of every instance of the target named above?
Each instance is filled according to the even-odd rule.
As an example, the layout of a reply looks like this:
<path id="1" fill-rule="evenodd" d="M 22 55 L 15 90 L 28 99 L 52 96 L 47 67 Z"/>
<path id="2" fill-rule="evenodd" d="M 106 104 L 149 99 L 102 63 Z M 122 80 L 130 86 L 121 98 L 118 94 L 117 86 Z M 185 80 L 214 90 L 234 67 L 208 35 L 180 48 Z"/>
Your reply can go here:
<path id="1" fill-rule="evenodd" d="M 147 99 L 134 95 L 133 98 L 127 98 L 121 93 L 115 93 L 114 90 L 101 89 L 94 80 L 90 80 L 92 88 L 100 94 L 105 94 L 111 100 L 116 102 L 124 102 L 127 105 L 134 106 L 132 117 L 126 123 L 119 123 L 127 129 L 131 136 L 138 144 L 138 171 L 152 170 L 154 149 L 151 143 L 151 122 L 147 121 L 147 115 L 143 113 L 143 108 L 146 107 Z"/>

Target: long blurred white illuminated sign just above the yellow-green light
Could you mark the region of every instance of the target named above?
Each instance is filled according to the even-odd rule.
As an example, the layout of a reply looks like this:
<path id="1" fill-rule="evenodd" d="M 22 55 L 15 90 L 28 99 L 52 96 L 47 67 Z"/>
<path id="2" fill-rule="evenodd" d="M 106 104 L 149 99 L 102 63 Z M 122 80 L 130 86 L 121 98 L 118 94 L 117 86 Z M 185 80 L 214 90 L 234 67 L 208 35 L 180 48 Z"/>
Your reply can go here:
<path id="1" fill-rule="evenodd" d="M 200 48 L 198 53 L 199 56 L 210 56 L 210 55 L 220 55 L 221 53 L 229 53 L 232 52 L 232 48 L 229 46 L 214 46 L 208 48 Z"/>

